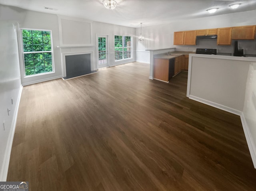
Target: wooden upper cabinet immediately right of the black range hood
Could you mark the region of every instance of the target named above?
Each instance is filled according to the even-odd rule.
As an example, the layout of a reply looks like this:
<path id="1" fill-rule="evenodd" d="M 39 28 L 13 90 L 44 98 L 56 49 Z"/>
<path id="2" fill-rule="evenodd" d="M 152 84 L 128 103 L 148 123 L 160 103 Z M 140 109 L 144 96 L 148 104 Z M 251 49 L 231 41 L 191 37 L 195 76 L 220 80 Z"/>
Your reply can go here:
<path id="1" fill-rule="evenodd" d="M 231 45 L 231 27 L 217 29 L 217 45 Z"/>

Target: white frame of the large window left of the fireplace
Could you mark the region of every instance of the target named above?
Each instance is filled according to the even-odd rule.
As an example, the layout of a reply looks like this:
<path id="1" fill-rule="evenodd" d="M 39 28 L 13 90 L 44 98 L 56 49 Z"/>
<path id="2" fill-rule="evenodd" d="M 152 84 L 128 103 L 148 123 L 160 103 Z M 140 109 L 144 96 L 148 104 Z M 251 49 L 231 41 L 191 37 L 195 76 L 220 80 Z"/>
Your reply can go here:
<path id="1" fill-rule="evenodd" d="M 22 30 L 35 30 L 35 31 L 47 31 L 50 32 L 50 37 L 51 37 L 51 51 L 32 51 L 32 52 L 24 52 L 24 46 L 23 46 L 23 34 Z M 21 39 L 21 49 L 22 49 L 22 60 L 23 60 L 23 69 L 24 69 L 24 78 L 28 77 L 34 77 L 34 76 L 39 76 L 39 75 L 47 75 L 47 74 L 52 74 L 55 73 L 55 67 L 54 67 L 54 55 L 53 55 L 53 46 L 52 46 L 52 30 L 44 30 L 44 29 L 29 29 L 29 28 L 20 28 L 20 39 Z M 25 67 L 25 54 L 32 54 L 32 53 L 52 53 L 52 71 L 51 72 L 45 72 L 45 73 L 38 73 L 34 75 L 26 75 L 26 67 Z"/>

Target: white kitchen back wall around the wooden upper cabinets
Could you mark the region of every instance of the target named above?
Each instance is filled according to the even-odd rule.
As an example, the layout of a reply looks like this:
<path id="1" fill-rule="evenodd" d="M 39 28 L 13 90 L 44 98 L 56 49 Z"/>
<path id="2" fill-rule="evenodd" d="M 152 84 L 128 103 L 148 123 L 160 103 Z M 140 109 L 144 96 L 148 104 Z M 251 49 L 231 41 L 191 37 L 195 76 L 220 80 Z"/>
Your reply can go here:
<path id="1" fill-rule="evenodd" d="M 222 28 L 231 26 L 256 25 L 256 10 L 247 12 L 238 12 L 226 15 L 211 16 L 207 18 L 197 18 L 182 21 L 170 21 L 169 24 L 158 26 L 143 27 L 142 35 L 145 40 L 136 43 L 136 51 L 140 60 L 148 61 L 149 53 L 140 53 L 146 49 L 158 49 L 167 47 L 176 47 L 176 51 L 196 51 L 196 48 L 216 48 L 218 52 L 232 53 L 233 45 L 218 46 L 216 39 L 201 39 L 197 45 L 173 45 L 173 36 L 176 31 L 198 30 L 207 28 Z M 140 28 L 136 28 L 136 36 L 140 35 Z M 240 40 L 239 48 L 245 50 L 247 54 L 256 54 L 256 41 Z"/>

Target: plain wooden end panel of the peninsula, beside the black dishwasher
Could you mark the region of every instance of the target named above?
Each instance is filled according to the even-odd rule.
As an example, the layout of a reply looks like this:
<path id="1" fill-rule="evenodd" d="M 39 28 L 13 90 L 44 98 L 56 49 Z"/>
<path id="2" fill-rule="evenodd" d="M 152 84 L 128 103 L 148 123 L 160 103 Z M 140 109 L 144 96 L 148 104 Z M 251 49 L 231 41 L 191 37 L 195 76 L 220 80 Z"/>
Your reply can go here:
<path id="1" fill-rule="evenodd" d="M 154 79 L 169 81 L 169 60 L 154 59 Z"/>

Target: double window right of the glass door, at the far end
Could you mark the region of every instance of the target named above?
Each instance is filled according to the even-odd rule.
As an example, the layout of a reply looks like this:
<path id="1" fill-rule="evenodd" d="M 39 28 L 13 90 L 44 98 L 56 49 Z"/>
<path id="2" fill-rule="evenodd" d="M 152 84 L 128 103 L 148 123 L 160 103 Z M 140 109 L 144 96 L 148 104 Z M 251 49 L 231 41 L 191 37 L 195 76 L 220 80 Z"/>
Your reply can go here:
<path id="1" fill-rule="evenodd" d="M 115 61 L 132 57 L 132 37 L 115 35 Z"/>

